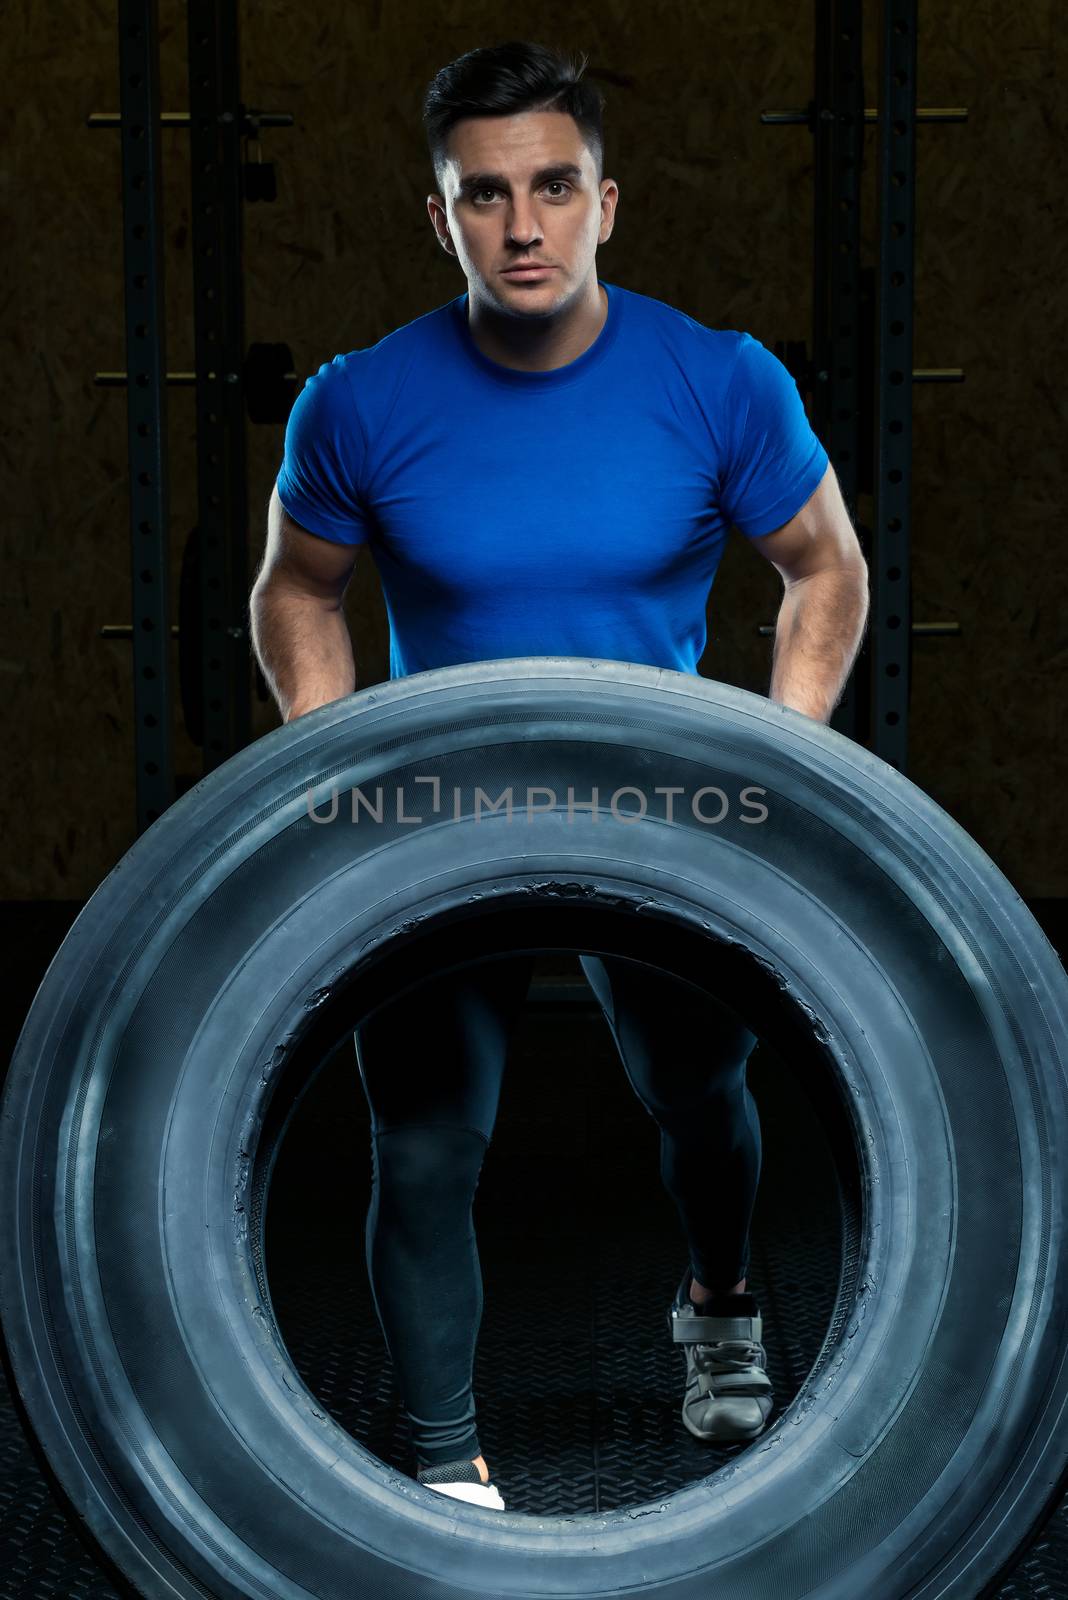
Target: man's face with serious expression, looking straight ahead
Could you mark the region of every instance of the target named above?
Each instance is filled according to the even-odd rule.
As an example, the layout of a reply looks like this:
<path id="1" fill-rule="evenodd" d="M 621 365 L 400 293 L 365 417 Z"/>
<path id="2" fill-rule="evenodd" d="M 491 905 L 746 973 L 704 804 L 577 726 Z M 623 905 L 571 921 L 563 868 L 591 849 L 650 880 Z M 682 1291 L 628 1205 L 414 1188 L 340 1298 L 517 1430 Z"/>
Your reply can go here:
<path id="1" fill-rule="evenodd" d="M 574 117 L 465 117 L 448 150 L 446 195 L 428 195 L 427 210 L 470 298 L 510 317 L 547 317 L 576 299 L 596 275 L 619 189 L 609 178 L 598 184 Z M 507 277 L 521 261 L 547 270 Z"/>

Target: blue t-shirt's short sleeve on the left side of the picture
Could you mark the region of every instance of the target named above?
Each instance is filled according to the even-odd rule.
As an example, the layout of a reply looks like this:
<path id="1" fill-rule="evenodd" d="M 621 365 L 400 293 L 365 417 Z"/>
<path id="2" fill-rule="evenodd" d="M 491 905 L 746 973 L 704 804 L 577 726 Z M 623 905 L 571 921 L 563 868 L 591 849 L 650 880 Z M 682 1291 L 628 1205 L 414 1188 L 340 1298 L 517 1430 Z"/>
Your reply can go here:
<path id="1" fill-rule="evenodd" d="M 323 362 L 293 403 L 278 499 L 309 533 L 361 544 L 369 534 L 358 488 L 366 445 L 342 362 Z"/>

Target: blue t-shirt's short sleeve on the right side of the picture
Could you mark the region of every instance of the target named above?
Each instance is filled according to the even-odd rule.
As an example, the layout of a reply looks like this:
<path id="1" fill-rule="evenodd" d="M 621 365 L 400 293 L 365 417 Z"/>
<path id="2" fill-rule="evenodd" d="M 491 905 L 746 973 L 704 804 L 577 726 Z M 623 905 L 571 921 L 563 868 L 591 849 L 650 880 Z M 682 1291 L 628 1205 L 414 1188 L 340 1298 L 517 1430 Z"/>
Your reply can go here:
<path id="1" fill-rule="evenodd" d="M 719 506 L 735 528 L 759 538 L 801 510 L 830 458 L 812 432 L 793 376 L 748 333 L 731 373 L 726 411 Z"/>

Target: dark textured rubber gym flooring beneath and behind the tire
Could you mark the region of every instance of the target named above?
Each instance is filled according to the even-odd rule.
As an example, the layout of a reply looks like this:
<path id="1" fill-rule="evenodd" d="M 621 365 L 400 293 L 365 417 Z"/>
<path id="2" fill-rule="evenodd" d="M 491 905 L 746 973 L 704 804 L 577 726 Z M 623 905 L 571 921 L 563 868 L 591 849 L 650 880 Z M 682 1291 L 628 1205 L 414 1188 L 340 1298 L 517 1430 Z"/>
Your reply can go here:
<path id="1" fill-rule="evenodd" d="M 10 952 L 5 1069 L 78 909 L 0 906 Z M 1031 910 L 1063 960 L 1066 902 L 1038 901 Z M 774 1419 L 820 1355 L 847 1267 L 852 1210 L 836 1152 L 788 1064 L 758 1045 L 748 1082 L 764 1152 L 750 1286 L 764 1315 Z M 556 1110 L 564 1101 L 576 1107 L 568 1123 Z M 368 1198 L 368 1112 L 347 1037 L 281 1147 L 265 1197 L 267 1277 L 304 1382 L 368 1451 L 412 1472 L 366 1282 Z M 737 1446 L 691 1438 L 679 1418 L 684 1357 L 665 1320 L 686 1266 L 678 1218 L 660 1187 L 656 1123 L 627 1083 L 577 957 L 539 958 L 475 1226 L 484 1283 L 480 1437 L 508 1510 L 636 1507 L 737 1454 Z M 70 1526 L 5 1389 L 0 1600 L 130 1594 Z M 991 1594 L 1068 1600 L 1068 1496 Z"/>

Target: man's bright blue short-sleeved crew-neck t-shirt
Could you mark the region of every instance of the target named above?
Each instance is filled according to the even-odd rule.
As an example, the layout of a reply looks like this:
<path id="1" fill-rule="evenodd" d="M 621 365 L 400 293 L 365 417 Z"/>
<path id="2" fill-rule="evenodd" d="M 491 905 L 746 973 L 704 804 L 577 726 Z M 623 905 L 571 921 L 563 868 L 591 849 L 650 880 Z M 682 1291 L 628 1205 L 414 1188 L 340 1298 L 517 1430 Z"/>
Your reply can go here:
<path id="1" fill-rule="evenodd" d="M 827 451 L 779 357 L 604 290 L 601 333 L 555 371 L 489 360 L 460 294 L 297 395 L 278 498 L 368 542 L 392 678 L 508 656 L 695 674 L 731 525 L 772 533 L 819 486 Z"/>

